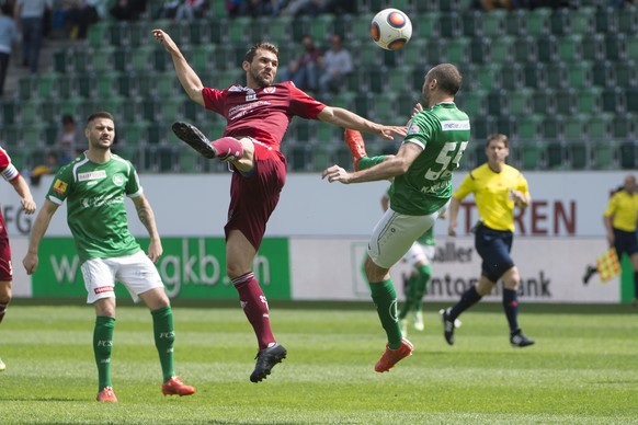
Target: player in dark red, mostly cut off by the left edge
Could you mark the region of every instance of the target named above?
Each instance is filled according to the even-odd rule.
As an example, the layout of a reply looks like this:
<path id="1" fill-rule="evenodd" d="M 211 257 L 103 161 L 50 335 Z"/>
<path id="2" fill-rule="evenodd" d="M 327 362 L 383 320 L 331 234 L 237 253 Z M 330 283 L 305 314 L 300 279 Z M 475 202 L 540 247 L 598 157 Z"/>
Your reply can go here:
<path id="1" fill-rule="evenodd" d="M 18 169 L 11 163 L 11 158 L 7 151 L 0 148 L 0 174 L 5 181 L 11 183 L 18 195 L 21 197 L 22 209 L 26 214 L 35 213 L 35 203 L 31 189 Z M 4 218 L 0 214 L 0 322 L 4 319 L 7 307 L 11 301 L 11 284 L 13 283 L 13 272 L 11 267 L 11 246 L 9 236 L 4 226 Z M 0 371 L 7 366 L 0 359 Z"/>

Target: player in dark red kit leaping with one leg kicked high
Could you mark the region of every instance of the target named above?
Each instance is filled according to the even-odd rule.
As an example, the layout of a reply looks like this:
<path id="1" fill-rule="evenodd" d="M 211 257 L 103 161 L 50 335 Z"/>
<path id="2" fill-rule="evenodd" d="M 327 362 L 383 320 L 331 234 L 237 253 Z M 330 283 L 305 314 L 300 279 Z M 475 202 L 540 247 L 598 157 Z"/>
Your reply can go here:
<path id="1" fill-rule="evenodd" d="M 297 89 L 290 81 L 274 83 L 278 49 L 258 43 L 246 54 L 242 68 L 247 85 L 224 90 L 205 88 L 173 39 L 162 30 L 153 36 L 171 55 L 178 78 L 196 103 L 227 119 L 224 137 L 209 141 L 186 123 L 173 124 L 175 135 L 206 158 L 232 164 L 230 206 L 226 232 L 226 273 L 239 292 L 243 311 L 259 343 L 257 366 L 250 376 L 260 382 L 286 357 L 273 336 L 265 296 L 252 273 L 252 262 L 263 239 L 286 179 L 286 159 L 280 150 L 294 116 L 320 119 L 344 128 L 375 133 L 386 139 L 403 136 L 403 127 L 369 122 L 340 107 L 327 106 Z"/>

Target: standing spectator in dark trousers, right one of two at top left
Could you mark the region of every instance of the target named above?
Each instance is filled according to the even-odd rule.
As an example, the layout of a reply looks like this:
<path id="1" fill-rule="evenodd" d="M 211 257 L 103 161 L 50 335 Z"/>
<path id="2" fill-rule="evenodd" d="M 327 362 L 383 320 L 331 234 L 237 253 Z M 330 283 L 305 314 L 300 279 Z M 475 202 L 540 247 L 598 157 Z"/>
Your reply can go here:
<path id="1" fill-rule="evenodd" d="M 22 66 L 29 67 L 31 73 L 37 73 L 47 9 L 53 9 L 52 0 L 18 0 L 13 10 L 15 24 L 22 32 Z"/>

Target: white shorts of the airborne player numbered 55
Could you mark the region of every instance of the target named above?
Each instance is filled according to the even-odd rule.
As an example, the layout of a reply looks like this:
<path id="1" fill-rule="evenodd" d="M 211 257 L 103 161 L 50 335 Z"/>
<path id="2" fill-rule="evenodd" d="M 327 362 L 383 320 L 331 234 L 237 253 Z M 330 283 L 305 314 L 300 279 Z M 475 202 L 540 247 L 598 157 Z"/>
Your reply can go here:
<path id="1" fill-rule="evenodd" d="M 371 260 L 379 267 L 390 268 L 410 250 L 414 241 L 428 231 L 438 215 L 445 210 L 429 216 L 406 216 L 388 208 L 375 226 L 367 244 Z"/>

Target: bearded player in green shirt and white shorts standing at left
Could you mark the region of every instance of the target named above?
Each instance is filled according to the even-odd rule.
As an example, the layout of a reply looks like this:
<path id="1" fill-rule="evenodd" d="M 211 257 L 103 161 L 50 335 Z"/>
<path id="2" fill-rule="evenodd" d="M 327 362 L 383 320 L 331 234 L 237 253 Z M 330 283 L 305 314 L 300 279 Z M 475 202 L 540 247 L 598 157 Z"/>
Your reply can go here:
<path id="1" fill-rule="evenodd" d="M 173 370 L 173 313 L 161 277 L 153 265 L 162 253 L 155 215 L 139 184 L 133 164 L 112 153 L 115 137 L 113 116 L 99 112 L 89 116 L 84 135 L 89 149 L 56 174 L 33 226 L 29 251 L 23 260 L 27 274 L 38 264 L 37 249 L 58 207 L 67 200 L 67 222 L 81 262 L 88 303 L 95 308 L 93 352 L 98 365 L 98 401 L 117 402 L 111 383 L 111 352 L 115 328 L 115 282 L 126 286 L 133 298 L 148 306 L 155 343 L 163 374 L 164 395 L 190 395 L 193 387 Z M 128 230 L 125 196 L 135 204 L 139 220 L 148 230 L 148 256 Z"/>

